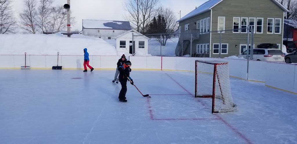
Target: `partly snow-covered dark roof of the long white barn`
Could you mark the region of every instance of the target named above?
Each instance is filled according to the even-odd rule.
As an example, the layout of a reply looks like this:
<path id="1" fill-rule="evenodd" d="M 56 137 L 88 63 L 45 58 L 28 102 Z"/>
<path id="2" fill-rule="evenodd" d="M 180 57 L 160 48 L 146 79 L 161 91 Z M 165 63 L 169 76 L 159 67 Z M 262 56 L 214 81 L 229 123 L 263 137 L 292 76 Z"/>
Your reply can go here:
<path id="1" fill-rule="evenodd" d="M 129 21 L 83 20 L 83 28 L 131 30 Z"/>

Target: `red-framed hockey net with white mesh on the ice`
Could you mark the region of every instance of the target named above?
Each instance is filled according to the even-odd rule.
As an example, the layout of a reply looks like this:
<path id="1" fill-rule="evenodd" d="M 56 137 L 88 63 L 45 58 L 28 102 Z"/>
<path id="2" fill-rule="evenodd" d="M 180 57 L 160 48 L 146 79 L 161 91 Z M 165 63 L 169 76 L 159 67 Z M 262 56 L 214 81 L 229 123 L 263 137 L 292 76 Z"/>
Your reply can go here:
<path id="1" fill-rule="evenodd" d="M 228 62 L 195 62 L 195 97 L 212 97 L 212 113 L 237 111 L 231 95 Z"/>

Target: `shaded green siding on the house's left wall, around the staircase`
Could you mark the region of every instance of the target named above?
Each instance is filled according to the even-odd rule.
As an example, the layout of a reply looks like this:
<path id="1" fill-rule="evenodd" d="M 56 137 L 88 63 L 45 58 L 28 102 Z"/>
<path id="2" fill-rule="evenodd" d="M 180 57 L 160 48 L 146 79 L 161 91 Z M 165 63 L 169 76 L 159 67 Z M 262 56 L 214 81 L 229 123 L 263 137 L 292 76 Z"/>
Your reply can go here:
<path id="1" fill-rule="evenodd" d="M 211 17 L 210 10 L 200 15 L 196 15 L 194 17 L 191 17 L 189 19 L 179 22 L 179 26 L 181 26 L 181 31 L 185 31 L 186 24 L 189 24 L 189 29 L 197 29 L 197 21 L 207 17 Z M 209 43 L 210 43 L 210 33 L 204 33 L 204 34 L 200 33 L 200 38 L 192 41 L 192 54 L 196 52 L 197 44 L 209 44 Z M 186 48 L 185 54 L 190 54 L 190 48 L 191 46 L 189 44 L 189 46 Z"/>

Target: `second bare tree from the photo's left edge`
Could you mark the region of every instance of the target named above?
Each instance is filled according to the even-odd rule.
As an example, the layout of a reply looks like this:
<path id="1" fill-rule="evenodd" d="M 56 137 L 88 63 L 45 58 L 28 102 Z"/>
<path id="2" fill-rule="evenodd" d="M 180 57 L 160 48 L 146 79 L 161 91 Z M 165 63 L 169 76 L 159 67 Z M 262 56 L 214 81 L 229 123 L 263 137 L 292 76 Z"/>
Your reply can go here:
<path id="1" fill-rule="evenodd" d="M 24 33 L 36 33 L 36 0 L 24 0 L 24 9 L 20 13 L 20 28 L 24 30 Z"/>

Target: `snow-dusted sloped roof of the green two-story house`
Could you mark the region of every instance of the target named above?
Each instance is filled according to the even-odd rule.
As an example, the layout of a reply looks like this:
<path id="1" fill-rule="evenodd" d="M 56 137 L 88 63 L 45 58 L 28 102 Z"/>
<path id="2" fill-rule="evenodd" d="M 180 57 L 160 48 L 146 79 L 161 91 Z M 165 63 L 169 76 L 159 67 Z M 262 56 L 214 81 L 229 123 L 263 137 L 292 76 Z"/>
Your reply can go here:
<path id="1" fill-rule="evenodd" d="M 213 8 L 214 6 L 216 6 L 217 4 L 219 4 L 222 1 L 223 0 L 209 0 L 209 1 L 206 1 L 204 4 L 201 4 L 199 7 L 197 7 L 192 12 L 188 13 L 187 15 L 185 15 L 184 17 L 182 17 L 181 19 L 179 19 L 176 22 L 181 22 L 181 21 L 186 20 L 186 19 L 188 19 L 190 17 L 194 17 L 194 16 L 199 15 L 199 14 L 201 14 L 203 12 L 209 11 L 211 8 Z M 280 4 L 277 0 L 272 0 L 272 1 L 274 1 L 285 12 L 289 12 L 289 10 L 287 8 L 285 8 L 282 4 Z"/>

